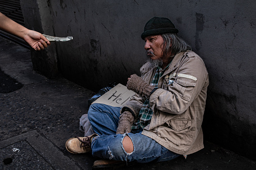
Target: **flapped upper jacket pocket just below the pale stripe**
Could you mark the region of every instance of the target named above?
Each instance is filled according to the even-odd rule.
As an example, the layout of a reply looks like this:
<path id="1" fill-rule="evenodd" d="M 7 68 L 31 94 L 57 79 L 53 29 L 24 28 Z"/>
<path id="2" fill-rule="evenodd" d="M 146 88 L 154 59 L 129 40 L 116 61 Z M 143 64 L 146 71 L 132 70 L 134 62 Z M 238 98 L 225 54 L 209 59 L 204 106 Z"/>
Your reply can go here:
<path id="1" fill-rule="evenodd" d="M 179 93 L 179 95 L 183 99 L 189 101 L 195 86 L 196 86 L 195 80 L 192 80 L 190 78 L 178 77 L 174 88 L 175 88 L 175 91 Z"/>

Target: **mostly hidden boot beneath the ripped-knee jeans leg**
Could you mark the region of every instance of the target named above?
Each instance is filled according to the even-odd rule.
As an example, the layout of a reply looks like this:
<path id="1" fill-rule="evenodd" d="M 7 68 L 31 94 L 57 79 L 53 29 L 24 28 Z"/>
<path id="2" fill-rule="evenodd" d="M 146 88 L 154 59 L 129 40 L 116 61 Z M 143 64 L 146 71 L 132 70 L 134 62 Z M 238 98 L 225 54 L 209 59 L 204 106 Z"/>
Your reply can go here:
<path id="1" fill-rule="evenodd" d="M 94 162 L 93 169 L 120 169 L 126 165 L 126 161 L 102 159 Z"/>

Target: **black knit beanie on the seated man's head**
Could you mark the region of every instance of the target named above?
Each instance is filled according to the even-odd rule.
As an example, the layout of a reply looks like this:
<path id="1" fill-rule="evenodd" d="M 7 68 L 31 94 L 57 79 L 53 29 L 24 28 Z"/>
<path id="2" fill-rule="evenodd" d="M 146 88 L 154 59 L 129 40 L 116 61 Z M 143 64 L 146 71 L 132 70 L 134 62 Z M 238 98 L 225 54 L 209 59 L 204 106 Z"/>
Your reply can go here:
<path id="1" fill-rule="evenodd" d="M 175 28 L 174 24 L 169 19 L 154 17 L 146 23 L 141 38 L 144 40 L 147 36 L 178 32 L 179 30 Z"/>

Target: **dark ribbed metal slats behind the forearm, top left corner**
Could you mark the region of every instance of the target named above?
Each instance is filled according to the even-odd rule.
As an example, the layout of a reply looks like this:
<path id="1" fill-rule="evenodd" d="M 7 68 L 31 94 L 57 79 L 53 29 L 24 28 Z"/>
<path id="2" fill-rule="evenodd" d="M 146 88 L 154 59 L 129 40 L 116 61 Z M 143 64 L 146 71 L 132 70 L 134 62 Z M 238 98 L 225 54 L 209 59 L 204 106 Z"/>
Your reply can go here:
<path id="1" fill-rule="evenodd" d="M 16 23 L 19 23 L 20 25 L 25 26 L 23 14 L 21 11 L 20 0 L 11 0 L 11 1 L 0 0 L 0 12 L 3 13 L 5 16 L 9 17 L 10 19 L 12 19 L 13 21 L 15 21 Z M 12 41 L 15 41 L 16 43 L 19 43 L 24 47 L 29 48 L 29 45 L 24 40 L 18 37 L 15 37 L 1 30 L 0 30 L 0 35 Z"/>

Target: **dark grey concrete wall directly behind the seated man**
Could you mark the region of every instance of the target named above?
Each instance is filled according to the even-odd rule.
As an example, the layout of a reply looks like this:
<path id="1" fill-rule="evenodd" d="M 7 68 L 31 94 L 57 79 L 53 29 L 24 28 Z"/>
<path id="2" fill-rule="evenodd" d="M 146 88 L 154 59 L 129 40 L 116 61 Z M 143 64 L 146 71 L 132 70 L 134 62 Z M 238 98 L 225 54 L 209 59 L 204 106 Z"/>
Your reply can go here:
<path id="1" fill-rule="evenodd" d="M 139 74 L 146 59 L 140 38 L 145 23 L 154 16 L 169 18 L 209 72 L 205 138 L 256 159 L 254 0 L 47 3 L 49 9 L 40 10 L 41 15 L 50 10 L 53 36 L 73 36 L 49 47 L 56 45 L 59 72 L 96 91 L 113 81 L 126 84 L 130 74 Z"/>

